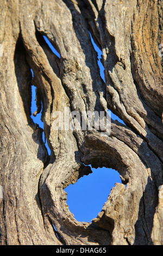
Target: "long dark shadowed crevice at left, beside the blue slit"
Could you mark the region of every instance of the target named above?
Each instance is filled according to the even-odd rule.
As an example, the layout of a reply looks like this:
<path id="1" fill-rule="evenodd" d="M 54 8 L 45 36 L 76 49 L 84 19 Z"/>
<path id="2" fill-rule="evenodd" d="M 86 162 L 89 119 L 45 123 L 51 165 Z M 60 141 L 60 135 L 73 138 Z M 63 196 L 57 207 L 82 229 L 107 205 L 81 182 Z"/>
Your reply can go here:
<path id="1" fill-rule="evenodd" d="M 33 129 L 32 138 L 39 145 L 37 157 L 42 162 L 47 162 L 48 152 L 42 139 L 43 129 L 35 124 L 31 118 L 31 102 L 32 102 L 32 72 L 26 59 L 26 50 L 23 46 L 21 35 L 19 36 L 14 54 L 15 75 L 18 90 L 22 98 L 24 112 L 27 117 L 28 125 Z"/>

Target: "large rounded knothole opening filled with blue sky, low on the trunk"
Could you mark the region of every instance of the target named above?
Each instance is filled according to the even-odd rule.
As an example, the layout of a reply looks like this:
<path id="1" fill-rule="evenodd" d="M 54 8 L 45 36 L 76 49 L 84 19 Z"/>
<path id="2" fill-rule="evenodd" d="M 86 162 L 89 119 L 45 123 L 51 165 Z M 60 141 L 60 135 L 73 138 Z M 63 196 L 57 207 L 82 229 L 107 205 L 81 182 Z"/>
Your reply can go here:
<path id="1" fill-rule="evenodd" d="M 65 188 L 67 205 L 77 221 L 91 222 L 102 210 L 110 190 L 115 183 L 121 183 L 120 174 L 110 168 L 91 168 L 92 173 L 84 175 L 75 184 Z"/>

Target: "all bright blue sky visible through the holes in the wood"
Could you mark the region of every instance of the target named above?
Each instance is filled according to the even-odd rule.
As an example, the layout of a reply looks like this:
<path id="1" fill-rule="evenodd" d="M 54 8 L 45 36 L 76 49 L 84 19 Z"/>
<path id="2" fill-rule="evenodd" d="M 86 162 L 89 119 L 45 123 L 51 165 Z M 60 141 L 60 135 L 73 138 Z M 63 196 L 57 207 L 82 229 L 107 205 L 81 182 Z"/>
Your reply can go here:
<path id="1" fill-rule="evenodd" d="M 45 39 L 49 48 L 51 48 L 52 52 L 60 58 L 59 53 L 55 50 L 46 36 L 43 36 L 43 38 Z M 100 68 L 101 77 L 104 80 L 104 67 L 100 61 L 102 51 L 99 50 L 92 37 L 91 41 L 93 47 L 98 53 L 98 65 Z M 32 86 L 32 113 L 34 113 L 35 110 L 35 87 Z M 34 120 L 34 123 L 39 124 L 39 126 L 43 129 L 41 113 L 37 114 L 36 117 L 33 117 L 33 115 L 31 117 Z M 117 119 L 123 123 L 123 121 L 113 113 L 111 113 L 111 118 L 114 120 Z M 45 145 L 47 147 L 48 154 L 50 155 L 51 151 L 48 148 L 47 142 Z M 116 170 L 105 167 L 91 169 L 91 174 L 80 178 L 75 184 L 71 184 L 65 188 L 65 191 L 67 192 L 67 204 L 70 211 L 74 214 L 74 217 L 78 221 L 91 222 L 92 218 L 97 217 L 98 212 L 102 210 L 102 207 L 109 196 L 111 188 L 115 186 L 116 182 L 121 183 L 120 175 Z"/>

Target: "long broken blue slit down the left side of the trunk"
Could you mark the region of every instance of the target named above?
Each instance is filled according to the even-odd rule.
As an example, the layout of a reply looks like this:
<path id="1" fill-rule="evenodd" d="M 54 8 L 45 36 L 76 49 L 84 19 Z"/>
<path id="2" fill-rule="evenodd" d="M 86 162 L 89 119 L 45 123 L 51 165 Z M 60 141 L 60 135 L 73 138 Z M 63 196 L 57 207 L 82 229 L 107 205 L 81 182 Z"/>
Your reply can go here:
<path id="1" fill-rule="evenodd" d="M 33 70 L 31 69 L 30 70 L 32 72 L 32 78 L 33 78 Z M 34 121 L 35 124 L 39 125 L 39 127 L 42 128 L 43 130 L 43 122 L 41 121 L 41 111 L 40 113 L 37 113 L 36 116 L 34 117 L 33 113 L 36 111 L 37 109 L 37 106 L 36 106 L 36 87 L 34 85 L 31 86 L 32 88 L 32 102 L 31 102 L 31 118 L 32 120 Z M 48 154 L 51 155 L 51 150 L 49 149 L 48 147 L 48 144 L 47 144 L 47 141 L 45 141 L 45 135 L 44 135 L 44 132 L 42 132 L 42 139 L 43 139 L 43 142 L 45 143 L 45 147 L 47 148 L 47 151 L 48 151 Z"/>

